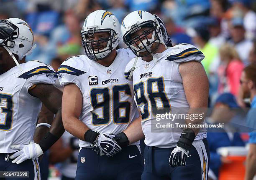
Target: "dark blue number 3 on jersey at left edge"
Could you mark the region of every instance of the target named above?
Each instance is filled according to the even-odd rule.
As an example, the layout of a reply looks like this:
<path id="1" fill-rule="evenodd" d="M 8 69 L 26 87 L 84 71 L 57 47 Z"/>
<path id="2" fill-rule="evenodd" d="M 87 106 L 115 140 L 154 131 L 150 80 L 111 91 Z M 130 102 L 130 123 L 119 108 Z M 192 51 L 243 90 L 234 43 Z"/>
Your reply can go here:
<path id="1" fill-rule="evenodd" d="M 13 122 L 13 96 L 0 93 L 0 130 L 10 130 Z"/>

